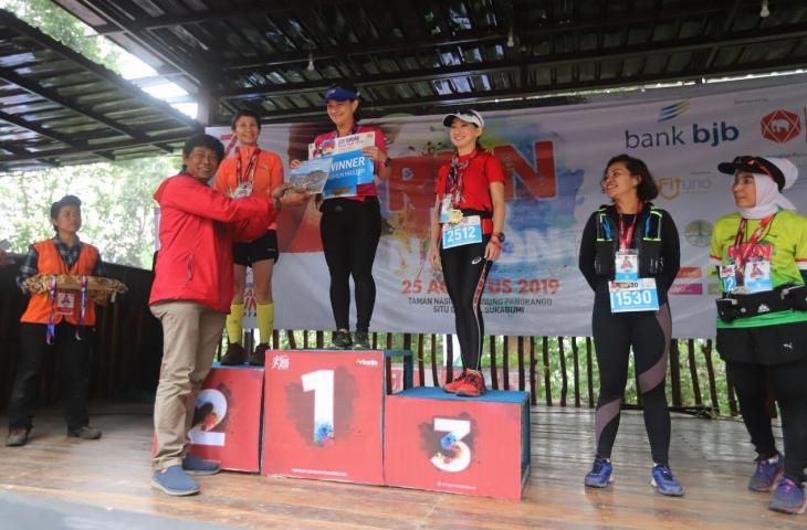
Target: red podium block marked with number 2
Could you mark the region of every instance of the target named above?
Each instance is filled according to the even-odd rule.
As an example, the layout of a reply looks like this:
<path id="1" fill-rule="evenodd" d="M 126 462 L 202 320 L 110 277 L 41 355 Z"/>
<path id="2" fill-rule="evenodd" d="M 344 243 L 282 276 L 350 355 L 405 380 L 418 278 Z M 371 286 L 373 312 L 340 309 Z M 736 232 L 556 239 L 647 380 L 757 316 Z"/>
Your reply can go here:
<path id="1" fill-rule="evenodd" d="M 196 401 L 190 452 L 222 469 L 258 473 L 262 367 L 213 364 Z"/>

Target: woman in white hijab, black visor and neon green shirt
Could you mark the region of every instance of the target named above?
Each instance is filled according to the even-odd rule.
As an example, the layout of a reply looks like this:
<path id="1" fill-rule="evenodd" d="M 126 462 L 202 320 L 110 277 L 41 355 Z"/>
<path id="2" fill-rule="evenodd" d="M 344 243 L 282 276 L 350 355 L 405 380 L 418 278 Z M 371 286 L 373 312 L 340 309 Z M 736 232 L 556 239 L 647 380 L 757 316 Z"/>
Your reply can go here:
<path id="1" fill-rule="evenodd" d="M 748 481 L 771 491 L 769 508 L 801 513 L 807 500 L 807 218 L 782 191 L 798 169 L 784 158 L 737 157 L 719 166 L 733 174 L 737 212 L 714 226 L 710 261 L 719 267 L 716 346 L 736 390 L 757 453 Z M 782 411 L 784 456 L 766 406 L 767 382 Z"/>

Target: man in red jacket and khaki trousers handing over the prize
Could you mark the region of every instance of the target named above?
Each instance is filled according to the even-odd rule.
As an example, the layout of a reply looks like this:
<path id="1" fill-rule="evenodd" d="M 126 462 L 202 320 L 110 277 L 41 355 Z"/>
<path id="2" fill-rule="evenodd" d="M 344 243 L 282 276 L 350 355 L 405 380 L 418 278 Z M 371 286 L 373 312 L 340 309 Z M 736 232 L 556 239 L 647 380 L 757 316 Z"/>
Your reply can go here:
<path id="1" fill-rule="evenodd" d="M 151 485 L 168 495 L 193 495 L 191 475 L 212 475 L 219 465 L 188 453 L 196 398 L 221 341 L 232 300 L 233 241 L 252 241 L 281 206 L 302 204 L 304 193 L 233 200 L 207 184 L 223 158 L 208 135 L 182 148 L 185 170 L 154 194 L 160 205 L 159 241 L 149 305 L 163 322 L 163 365 L 154 407 L 156 452 Z"/>

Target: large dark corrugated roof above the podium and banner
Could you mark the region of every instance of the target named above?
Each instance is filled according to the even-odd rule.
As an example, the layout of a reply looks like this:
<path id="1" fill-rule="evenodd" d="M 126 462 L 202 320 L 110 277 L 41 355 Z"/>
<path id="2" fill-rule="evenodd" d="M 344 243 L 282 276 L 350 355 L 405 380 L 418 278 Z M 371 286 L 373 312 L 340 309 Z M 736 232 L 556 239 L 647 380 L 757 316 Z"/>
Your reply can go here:
<path id="1" fill-rule="evenodd" d="M 767 18 L 759 0 L 55 1 L 182 86 L 205 86 L 213 123 L 242 107 L 322 116 L 339 77 L 374 115 L 807 62 L 807 4 L 787 0 L 771 0 Z"/>

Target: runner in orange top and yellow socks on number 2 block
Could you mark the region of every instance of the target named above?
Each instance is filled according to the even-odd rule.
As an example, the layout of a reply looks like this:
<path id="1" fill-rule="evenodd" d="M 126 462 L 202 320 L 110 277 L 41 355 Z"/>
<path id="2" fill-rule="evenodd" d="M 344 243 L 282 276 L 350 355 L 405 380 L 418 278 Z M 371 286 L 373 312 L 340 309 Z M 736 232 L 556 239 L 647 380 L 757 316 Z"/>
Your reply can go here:
<path id="1" fill-rule="evenodd" d="M 239 110 L 232 119 L 232 131 L 239 141 L 235 156 L 219 166 L 216 173 L 216 189 L 233 199 L 247 195 L 271 197 L 283 184 L 283 162 L 272 151 L 258 147 L 261 119 L 254 110 Z M 260 333 L 259 344 L 249 356 L 249 363 L 262 365 L 270 349 L 269 342 L 274 328 L 274 301 L 272 300 L 272 271 L 277 263 L 277 224 L 272 223 L 256 240 L 249 243 L 233 243 L 233 297 L 226 327 L 227 352 L 222 364 L 243 364 L 247 352 L 241 346 L 243 337 L 244 287 L 247 267 L 252 267 L 252 285 L 255 294 L 255 316 Z"/>

